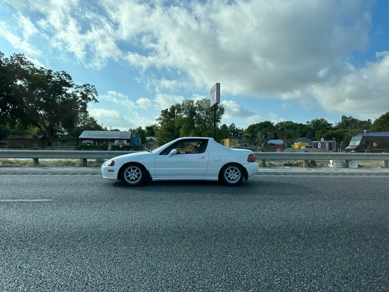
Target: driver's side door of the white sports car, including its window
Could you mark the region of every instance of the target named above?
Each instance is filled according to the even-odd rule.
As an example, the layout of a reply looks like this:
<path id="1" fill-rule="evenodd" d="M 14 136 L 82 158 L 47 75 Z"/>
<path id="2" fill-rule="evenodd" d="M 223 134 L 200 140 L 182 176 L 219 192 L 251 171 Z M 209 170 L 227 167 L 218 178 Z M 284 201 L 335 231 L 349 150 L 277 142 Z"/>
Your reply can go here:
<path id="1" fill-rule="evenodd" d="M 187 148 L 189 142 L 199 144 L 198 151 L 193 153 Z M 209 153 L 206 150 L 208 139 L 182 139 L 168 149 L 161 151 L 155 159 L 155 172 L 158 178 L 202 178 L 207 172 Z M 177 154 L 168 157 L 172 149 Z"/>

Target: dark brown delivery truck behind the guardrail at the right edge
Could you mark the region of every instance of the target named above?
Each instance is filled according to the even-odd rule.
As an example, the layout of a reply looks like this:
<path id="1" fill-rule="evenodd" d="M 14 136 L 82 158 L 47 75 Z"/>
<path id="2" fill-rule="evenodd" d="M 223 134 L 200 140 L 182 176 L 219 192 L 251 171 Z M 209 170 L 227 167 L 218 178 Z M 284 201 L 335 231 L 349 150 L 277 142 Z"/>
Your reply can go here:
<path id="1" fill-rule="evenodd" d="M 389 152 L 389 132 L 359 134 L 351 138 L 345 152 Z"/>

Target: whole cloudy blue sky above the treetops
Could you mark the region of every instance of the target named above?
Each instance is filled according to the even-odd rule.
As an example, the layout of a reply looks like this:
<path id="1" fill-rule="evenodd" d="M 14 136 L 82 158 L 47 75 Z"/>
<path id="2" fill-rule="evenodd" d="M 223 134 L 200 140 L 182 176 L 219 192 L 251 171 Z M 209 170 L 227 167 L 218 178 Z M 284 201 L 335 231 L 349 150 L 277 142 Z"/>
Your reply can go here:
<path id="1" fill-rule="evenodd" d="M 0 1 L 0 50 L 96 86 L 108 128 L 154 124 L 221 83 L 222 119 L 389 111 L 389 1 Z"/>

